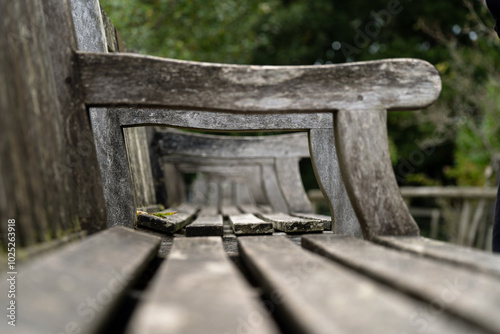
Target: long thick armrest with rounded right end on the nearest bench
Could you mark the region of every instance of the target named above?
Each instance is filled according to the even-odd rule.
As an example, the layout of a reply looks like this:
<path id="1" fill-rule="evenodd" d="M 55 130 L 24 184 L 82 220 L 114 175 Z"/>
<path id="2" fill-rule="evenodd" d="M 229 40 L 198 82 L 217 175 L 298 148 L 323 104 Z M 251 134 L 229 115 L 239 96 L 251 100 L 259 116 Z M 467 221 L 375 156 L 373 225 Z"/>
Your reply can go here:
<path id="1" fill-rule="evenodd" d="M 419 109 L 439 96 L 427 62 L 390 59 L 327 66 L 238 66 L 132 54 L 78 53 L 86 103 L 237 111 Z"/>

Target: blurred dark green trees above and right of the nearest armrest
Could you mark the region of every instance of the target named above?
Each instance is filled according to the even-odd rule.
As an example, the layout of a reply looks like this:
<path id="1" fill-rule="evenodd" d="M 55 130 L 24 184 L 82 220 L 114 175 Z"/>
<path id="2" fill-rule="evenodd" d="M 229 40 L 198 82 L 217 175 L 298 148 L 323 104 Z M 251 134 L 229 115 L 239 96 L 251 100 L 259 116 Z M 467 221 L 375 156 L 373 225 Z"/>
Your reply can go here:
<path id="1" fill-rule="evenodd" d="M 398 181 L 480 186 L 490 182 L 485 170 L 496 170 L 500 44 L 482 1 L 101 0 L 101 4 L 129 48 L 162 57 L 319 66 L 392 57 L 425 59 L 440 71 L 443 92 L 427 110 L 390 113 L 390 147 Z M 384 15 L 394 8 L 393 14 Z"/>

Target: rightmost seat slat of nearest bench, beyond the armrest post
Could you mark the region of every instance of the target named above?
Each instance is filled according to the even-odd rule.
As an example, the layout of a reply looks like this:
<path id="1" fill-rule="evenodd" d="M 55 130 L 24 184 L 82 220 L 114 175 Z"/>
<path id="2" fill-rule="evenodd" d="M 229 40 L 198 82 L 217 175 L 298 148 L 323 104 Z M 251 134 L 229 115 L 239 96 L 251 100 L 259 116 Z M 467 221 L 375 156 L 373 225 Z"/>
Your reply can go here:
<path id="1" fill-rule="evenodd" d="M 449 261 L 470 267 L 474 271 L 500 277 L 500 256 L 485 251 L 421 237 L 377 237 L 374 241 L 384 246 Z"/>

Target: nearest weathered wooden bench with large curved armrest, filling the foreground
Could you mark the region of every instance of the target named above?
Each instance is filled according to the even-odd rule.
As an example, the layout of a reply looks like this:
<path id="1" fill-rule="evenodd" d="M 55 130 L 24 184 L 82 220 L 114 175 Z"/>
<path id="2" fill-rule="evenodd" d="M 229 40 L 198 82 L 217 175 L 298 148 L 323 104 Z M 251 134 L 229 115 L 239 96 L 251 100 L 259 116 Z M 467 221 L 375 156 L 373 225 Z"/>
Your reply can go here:
<path id="1" fill-rule="evenodd" d="M 74 15 L 100 17 L 97 2 L 71 4 Z M 2 287 L 16 296 L 0 296 L 11 308 L 2 333 L 500 332 L 499 258 L 418 237 L 390 166 L 386 111 L 437 98 L 439 76 L 428 63 L 255 67 L 85 53 L 76 51 L 67 0 L 2 1 L 0 11 L 0 130 L 9 134 L 2 157 L 9 153 L 7 166 L 21 168 L 5 142 L 41 151 L 44 164 L 30 165 L 35 172 L 26 180 L 49 185 L 37 173 L 47 175 L 64 147 L 74 148 L 92 127 L 97 154 L 89 148 L 77 169 L 100 162 L 108 217 L 104 231 L 9 269 L 16 272 Z M 16 112 L 33 121 L 16 124 Z M 55 133 L 71 125 L 75 137 L 62 138 L 66 146 L 52 147 L 50 133 L 46 144 L 10 129 L 30 129 L 45 113 L 54 116 L 46 124 Z M 184 238 L 135 231 L 122 129 L 151 124 L 307 131 L 336 234 Z M 14 170 L 0 171 L 2 196 L 10 196 Z M 70 215 L 75 198 L 102 198 L 97 186 L 88 192 L 92 178 L 80 176 L 65 174 L 72 187 L 52 197 L 34 188 L 39 219 L 64 221 L 51 207 Z M 17 185 L 24 194 L 25 183 Z M 32 225 L 19 218 L 29 210 L 23 198 L 8 197 L 16 200 L 7 206 L 2 196 L 2 221 L 16 219 L 19 236 L 29 234 Z M 90 232 L 102 227 L 89 221 Z M 360 231 L 365 240 L 353 236 Z"/>

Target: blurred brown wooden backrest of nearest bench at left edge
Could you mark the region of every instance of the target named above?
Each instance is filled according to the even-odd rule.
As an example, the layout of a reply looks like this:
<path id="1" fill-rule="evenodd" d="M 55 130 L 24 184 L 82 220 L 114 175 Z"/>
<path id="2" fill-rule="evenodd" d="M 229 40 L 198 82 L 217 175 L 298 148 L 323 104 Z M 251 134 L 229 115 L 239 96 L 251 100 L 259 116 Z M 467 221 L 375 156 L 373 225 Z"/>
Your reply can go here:
<path id="1" fill-rule="evenodd" d="M 0 7 L 0 218 L 16 219 L 18 247 L 81 227 L 95 232 L 106 216 L 89 122 L 77 112 L 68 3 Z"/>

